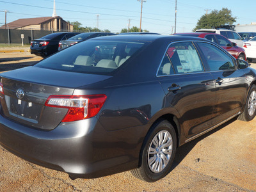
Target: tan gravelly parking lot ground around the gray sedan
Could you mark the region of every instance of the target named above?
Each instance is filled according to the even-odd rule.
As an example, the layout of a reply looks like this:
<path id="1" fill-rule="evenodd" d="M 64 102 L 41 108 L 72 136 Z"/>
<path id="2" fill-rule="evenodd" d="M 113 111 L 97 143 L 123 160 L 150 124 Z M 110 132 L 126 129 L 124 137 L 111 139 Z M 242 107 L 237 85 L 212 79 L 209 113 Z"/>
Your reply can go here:
<path id="1" fill-rule="evenodd" d="M 40 60 L 27 50 L 0 52 L 0 72 Z M 0 191 L 256 191 L 256 118 L 233 118 L 182 145 L 172 172 L 154 183 L 129 172 L 71 180 L 66 173 L 29 163 L 0 147 Z"/>

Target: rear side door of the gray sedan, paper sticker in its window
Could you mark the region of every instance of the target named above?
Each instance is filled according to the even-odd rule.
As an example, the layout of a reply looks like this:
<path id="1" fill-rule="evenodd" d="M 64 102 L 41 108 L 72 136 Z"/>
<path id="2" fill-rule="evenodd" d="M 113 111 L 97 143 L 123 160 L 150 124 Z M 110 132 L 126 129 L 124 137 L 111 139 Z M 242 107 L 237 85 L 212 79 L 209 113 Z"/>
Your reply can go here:
<path id="1" fill-rule="evenodd" d="M 192 42 L 177 42 L 168 47 L 157 78 L 170 106 L 179 111 L 186 137 L 211 127 L 215 102 L 214 82 L 205 72 Z"/>

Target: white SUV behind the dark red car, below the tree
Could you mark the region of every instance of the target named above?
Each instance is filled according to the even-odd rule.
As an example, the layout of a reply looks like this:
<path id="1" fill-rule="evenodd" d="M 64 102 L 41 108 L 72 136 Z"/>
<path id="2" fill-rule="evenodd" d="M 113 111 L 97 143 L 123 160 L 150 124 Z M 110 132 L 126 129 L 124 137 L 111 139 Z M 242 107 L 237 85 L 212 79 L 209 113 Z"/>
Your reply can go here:
<path id="1" fill-rule="evenodd" d="M 229 29 L 197 29 L 195 32 L 204 32 L 204 33 L 218 33 L 220 35 L 225 36 L 231 42 L 234 42 L 239 47 L 243 47 L 244 42 L 241 36 L 236 33 L 236 31 L 232 31 Z"/>

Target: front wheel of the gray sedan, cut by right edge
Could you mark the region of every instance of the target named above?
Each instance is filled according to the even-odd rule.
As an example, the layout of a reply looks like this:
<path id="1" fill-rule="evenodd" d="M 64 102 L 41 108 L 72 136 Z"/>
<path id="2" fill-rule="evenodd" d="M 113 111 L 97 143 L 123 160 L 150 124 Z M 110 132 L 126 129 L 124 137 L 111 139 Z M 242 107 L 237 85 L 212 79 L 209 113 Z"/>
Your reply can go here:
<path id="1" fill-rule="evenodd" d="M 252 85 L 250 88 L 250 92 L 248 93 L 246 99 L 246 105 L 244 107 L 243 113 L 238 116 L 238 120 L 249 122 L 253 120 L 256 115 L 256 86 L 255 84 Z"/>

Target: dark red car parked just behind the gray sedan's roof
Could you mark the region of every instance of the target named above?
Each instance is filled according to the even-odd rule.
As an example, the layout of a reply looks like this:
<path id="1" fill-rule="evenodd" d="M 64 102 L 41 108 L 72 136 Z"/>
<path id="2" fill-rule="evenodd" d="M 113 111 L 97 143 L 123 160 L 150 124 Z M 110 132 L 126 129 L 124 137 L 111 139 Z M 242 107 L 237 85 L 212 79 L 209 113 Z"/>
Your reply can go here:
<path id="1" fill-rule="evenodd" d="M 246 60 L 245 52 L 242 47 L 238 47 L 236 43 L 230 42 L 225 36 L 219 35 L 216 33 L 175 33 L 173 35 L 181 35 L 181 36 L 197 36 L 201 38 L 206 38 L 211 42 L 214 42 L 226 51 L 228 51 L 234 58 L 239 60 Z"/>

